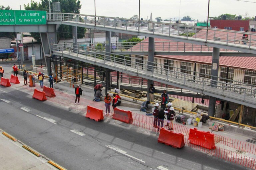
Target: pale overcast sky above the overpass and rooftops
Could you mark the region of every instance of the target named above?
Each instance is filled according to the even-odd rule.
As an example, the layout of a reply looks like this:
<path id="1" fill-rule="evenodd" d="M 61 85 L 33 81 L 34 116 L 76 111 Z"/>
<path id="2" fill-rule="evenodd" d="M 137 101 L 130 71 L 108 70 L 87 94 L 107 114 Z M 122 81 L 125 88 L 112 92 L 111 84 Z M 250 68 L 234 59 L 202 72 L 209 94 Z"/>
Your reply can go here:
<path id="1" fill-rule="evenodd" d="M 10 6 L 13 10 L 24 10 L 24 4 L 31 0 L 1 0 L 0 5 Z M 34 0 L 41 2 L 41 0 Z M 80 14 L 94 15 L 94 0 L 80 0 L 82 8 Z M 130 18 L 139 14 L 139 0 L 95 0 L 96 15 L 108 17 Z M 249 1 L 249 2 L 244 2 Z M 255 2 L 255 3 L 254 3 Z M 243 17 L 256 16 L 256 0 L 210 0 L 209 17 L 221 14 L 236 14 Z M 156 17 L 171 19 L 172 21 L 190 16 L 199 21 L 207 20 L 208 0 L 140 0 L 140 18 L 153 21 Z"/>

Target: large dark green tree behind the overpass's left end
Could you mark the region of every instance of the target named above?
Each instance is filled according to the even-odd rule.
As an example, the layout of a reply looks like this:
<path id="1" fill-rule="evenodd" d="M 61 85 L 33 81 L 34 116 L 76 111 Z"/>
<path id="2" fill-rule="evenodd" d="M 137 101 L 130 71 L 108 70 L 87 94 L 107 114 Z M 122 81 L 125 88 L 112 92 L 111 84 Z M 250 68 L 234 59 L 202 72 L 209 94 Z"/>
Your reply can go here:
<path id="1" fill-rule="evenodd" d="M 61 13 L 75 13 L 79 14 L 82 5 L 80 4 L 79 0 L 52 0 L 50 3 L 52 8 L 53 2 L 60 2 L 61 6 Z M 49 0 L 41 0 L 41 2 L 35 2 L 31 0 L 30 4 L 25 5 L 25 10 L 48 10 L 49 9 Z M 86 32 L 86 28 L 78 27 L 77 28 L 77 38 L 83 38 L 84 33 Z M 31 36 L 41 42 L 40 34 L 39 33 L 31 33 Z M 60 25 L 57 31 L 57 38 L 64 38 L 64 39 L 72 39 L 72 26 L 68 25 Z"/>

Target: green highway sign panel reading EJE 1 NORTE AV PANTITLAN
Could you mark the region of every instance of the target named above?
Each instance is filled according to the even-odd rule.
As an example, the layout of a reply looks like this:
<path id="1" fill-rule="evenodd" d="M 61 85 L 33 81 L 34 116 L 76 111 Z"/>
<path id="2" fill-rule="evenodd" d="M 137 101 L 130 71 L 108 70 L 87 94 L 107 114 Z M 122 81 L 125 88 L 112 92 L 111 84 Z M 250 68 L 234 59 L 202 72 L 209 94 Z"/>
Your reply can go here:
<path id="1" fill-rule="evenodd" d="M 15 10 L 16 25 L 46 24 L 46 11 Z"/>

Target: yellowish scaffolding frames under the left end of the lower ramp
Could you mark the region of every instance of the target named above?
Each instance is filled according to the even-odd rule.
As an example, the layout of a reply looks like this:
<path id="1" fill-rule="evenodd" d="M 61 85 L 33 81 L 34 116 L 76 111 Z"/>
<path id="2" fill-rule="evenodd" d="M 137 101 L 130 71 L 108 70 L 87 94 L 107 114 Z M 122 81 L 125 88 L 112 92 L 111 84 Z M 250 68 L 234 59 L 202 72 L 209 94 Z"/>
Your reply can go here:
<path id="1" fill-rule="evenodd" d="M 56 82 L 66 81 L 71 84 L 78 83 L 82 81 L 82 68 L 73 69 L 73 67 L 59 66 L 56 65 L 55 78 Z"/>

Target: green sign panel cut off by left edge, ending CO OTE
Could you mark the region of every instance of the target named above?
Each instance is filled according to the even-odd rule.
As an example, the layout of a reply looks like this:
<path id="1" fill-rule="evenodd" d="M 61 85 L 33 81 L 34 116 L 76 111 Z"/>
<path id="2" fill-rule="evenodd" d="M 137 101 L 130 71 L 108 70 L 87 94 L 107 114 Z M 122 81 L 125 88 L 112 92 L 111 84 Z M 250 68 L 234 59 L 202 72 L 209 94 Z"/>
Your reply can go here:
<path id="1" fill-rule="evenodd" d="M 14 10 L 0 10 L 0 25 L 14 25 Z"/>

